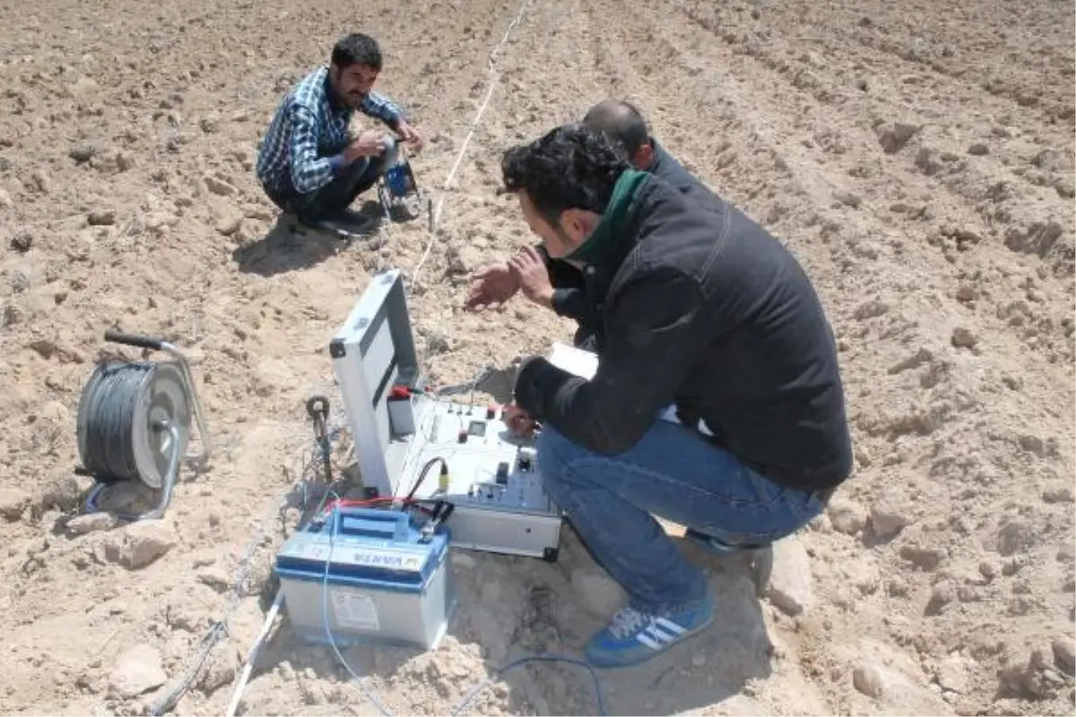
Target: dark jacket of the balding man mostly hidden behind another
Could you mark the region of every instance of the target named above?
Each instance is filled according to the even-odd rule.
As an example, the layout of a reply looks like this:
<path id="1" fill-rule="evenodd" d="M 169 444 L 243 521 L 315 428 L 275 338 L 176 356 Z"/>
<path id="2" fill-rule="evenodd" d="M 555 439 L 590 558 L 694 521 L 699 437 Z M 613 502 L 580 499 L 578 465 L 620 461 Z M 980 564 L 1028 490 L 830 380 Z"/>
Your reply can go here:
<path id="1" fill-rule="evenodd" d="M 720 198 L 684 169 L 657 140 L 651 138 L 650 144 L 654 156 L 647 172 L 662 177 L 690 199 L 697 199 L 710 206 L 722 205 Z M 536 248 L 546 261 L 550 283 L 553 285 L 553 311 L 558 316 L 575 319 L 579 325 L 577 344 L 583 338 L 591 338 L 596 342 L 600 317 L 594 312 L 594 302 L 586 299 L 586 277 L 568 262 L 550 257 L 541 244 Z"/>

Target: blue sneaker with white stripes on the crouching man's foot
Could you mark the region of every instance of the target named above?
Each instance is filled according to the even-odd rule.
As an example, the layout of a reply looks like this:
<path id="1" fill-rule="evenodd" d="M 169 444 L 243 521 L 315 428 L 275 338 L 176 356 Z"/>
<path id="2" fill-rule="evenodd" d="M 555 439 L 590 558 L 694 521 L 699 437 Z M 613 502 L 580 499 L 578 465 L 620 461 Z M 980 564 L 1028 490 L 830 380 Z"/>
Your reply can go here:
<path id="1" fill-rule="evenodd" d="M 712 621 L 713 600 L 709 597 L 697 605 L 664 615 L 625 607 L 607 628 L 591 637 L 584 655 L 596 668 L 637 664 L 698 634 Z"/>

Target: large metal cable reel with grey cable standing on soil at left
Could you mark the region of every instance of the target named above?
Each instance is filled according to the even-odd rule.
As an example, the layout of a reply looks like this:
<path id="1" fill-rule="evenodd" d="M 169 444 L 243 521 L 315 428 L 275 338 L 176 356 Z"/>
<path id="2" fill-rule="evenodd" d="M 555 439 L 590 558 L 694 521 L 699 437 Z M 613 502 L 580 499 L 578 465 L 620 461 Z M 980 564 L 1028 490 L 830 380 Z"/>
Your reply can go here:
<path id="1" fill-rule="evenodd" d="M 164 516 L 183 461 L 204 465 L 210 455 L 209 432 L 186 357 L 172 344 L 151 336 L 109 330 L 104 340 L 165 352 L 171 361 L 98 362 L 79 399 L 79 457 L 83 472 L 97 485 L 86 498 L 86 512 L 110 486 L 138 481 L 159 493 L 155 508 L 117 517 L 144 520 Z M 198 424 L 201 453 L 187 453 L 192 417 Z"/>

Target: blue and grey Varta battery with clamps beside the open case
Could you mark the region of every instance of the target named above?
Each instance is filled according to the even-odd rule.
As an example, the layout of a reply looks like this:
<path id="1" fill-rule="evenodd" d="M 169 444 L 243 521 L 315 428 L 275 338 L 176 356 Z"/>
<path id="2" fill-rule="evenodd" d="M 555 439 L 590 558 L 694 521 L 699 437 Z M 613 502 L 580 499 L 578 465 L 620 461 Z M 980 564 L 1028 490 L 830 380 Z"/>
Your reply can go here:
<path id="1" fill-rule="evenodd" d="M 449 536 L 400 511 L 345 505 L 315 518 L 277 554 L 296 635 L 436 649 L 456 604 Z"/>

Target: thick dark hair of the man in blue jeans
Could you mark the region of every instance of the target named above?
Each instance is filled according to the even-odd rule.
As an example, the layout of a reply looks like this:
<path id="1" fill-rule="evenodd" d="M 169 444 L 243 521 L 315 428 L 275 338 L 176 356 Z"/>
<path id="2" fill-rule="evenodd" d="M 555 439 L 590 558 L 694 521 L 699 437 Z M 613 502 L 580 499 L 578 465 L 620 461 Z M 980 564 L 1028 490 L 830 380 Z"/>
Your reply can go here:
<path id="1" fill-rule="evenodd" d="M 525 191 L 554 227 L 566 210 L 605 212 L 617 181 L 628 168 L 627 159 L 605 135 L 580 124 L 563 125 L 511 147 L 500 160 L 505 191 Z"/>

